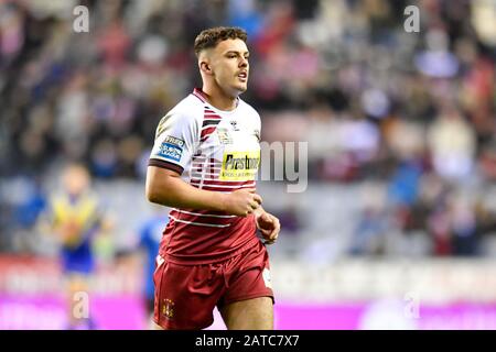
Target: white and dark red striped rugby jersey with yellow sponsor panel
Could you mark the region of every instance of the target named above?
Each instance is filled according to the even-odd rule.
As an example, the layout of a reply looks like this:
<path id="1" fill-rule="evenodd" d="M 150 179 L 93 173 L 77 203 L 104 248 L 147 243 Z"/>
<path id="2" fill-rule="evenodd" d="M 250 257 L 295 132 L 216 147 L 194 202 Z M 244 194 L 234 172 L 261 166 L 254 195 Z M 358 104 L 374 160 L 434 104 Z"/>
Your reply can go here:
<path id="1" fill-rule="evenodd" d="M 259 164 L 258 112 L 239 98 L 235 110 L 218 110 L 197 88 L 162 118 L 149 161 L 193 187 L 222 193 L 255 188 Z M 169 216 L 159 254 L 171 262 L 223 261 L 259 241 L 254 215 L 172 209 Z"/>

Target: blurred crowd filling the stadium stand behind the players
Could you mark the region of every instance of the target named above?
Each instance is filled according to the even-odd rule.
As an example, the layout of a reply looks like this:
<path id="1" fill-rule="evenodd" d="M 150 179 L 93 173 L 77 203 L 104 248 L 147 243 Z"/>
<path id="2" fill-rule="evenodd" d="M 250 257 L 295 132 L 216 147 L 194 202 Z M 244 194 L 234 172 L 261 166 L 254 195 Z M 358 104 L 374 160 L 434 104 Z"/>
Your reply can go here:
<path id="1" fill-rule="evenodd" d="M 78 3 L 88 33 L 73 30 Z M 412 3 L 420 31 L 408 33 Z M 222 24 L 248 32 L 242 98 L 262 140 L 309 142 L 311 183 L 386 185 L 349 254 L 384 254 L 375 239 L 393 226 L 428 233 L 430 255 L 478 255 L 496 232 L 495 12 L 477 0 L 3 1 L 0 251 L 35 222 L 61 160 L 143 180 L 159 119 L 200 84 L 192 43 Z"/>

